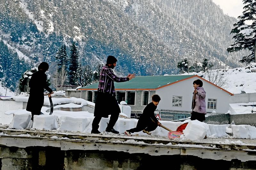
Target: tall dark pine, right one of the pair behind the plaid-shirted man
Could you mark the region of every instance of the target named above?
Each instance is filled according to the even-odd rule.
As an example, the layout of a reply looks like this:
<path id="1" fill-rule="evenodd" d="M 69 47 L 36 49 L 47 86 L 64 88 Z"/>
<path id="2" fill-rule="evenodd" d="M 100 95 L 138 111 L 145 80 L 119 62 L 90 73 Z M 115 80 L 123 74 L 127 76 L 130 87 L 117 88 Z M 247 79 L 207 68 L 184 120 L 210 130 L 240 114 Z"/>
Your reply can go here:
<path id="1" fill-rule="evenodd" d="M 77 69 L 78 69 L 78 51 L 75 43 L 73 42 L 70 47 L 70 66 L 68 72 L 69 84 L 77 84 Z"/>

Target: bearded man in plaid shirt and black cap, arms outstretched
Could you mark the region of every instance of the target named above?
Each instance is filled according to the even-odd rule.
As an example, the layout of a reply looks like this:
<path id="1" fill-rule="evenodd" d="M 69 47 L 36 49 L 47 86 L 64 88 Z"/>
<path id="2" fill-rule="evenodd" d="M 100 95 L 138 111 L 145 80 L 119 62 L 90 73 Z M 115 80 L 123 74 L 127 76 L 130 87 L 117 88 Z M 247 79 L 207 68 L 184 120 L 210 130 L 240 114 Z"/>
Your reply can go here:
<path id="1" fill-rule="evenodd" d="M 98 86 L 98 94 L 95 101 L 95 109 L 94 109 L 94 119 L 92 121 L 92 132 L 91 133 L 100 133 L 99 123 L 102 117 L 108 118 L 110 116 L 110 120 L 108 122 L 108 126 L 106 128 L 106 132 L 112 132 L 118 134 L 119 132 L 115 130 L 113 127 L 116 124 L 119 113 L 121 112 L 120 107 L 116 100 L 116 91 L 114 86 L 115 82 L 124 82 L 129 81 L 135 77 L 135 74 L 128 74 L 127 77 L 117 77 L 113 70 L 116 67 L 117 59 L 109 55 L 107 58 L 107 64 L 102 67 L 100 70 L 100 78 L 99 78 L 99 86 Z"/>

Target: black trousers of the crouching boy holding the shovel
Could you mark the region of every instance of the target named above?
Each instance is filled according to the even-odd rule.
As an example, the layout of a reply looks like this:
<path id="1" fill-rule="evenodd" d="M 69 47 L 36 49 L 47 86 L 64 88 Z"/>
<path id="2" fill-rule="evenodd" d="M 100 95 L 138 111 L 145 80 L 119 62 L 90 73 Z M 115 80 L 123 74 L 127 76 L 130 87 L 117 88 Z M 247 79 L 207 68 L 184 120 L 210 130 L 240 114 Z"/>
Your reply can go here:
<path id="1" fill-rule="evenodd" d="M 146 131 L 153 131 L 157 128 L 157 124 L 153 121 L 146 121 L 144 119 L 139 119 L 138 123 L 136 125 L 136 128 L 132 128 L 127 130 L 128 132 L 134 133 L 134 132 L 140 132 L 141 130 Z"/>

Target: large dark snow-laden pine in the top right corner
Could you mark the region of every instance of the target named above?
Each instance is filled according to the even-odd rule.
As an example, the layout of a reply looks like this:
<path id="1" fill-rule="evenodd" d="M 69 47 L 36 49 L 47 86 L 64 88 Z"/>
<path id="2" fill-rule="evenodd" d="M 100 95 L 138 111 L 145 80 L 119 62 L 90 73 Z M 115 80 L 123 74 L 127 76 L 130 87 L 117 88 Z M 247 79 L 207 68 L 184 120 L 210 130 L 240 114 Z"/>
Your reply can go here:
<path id="1" fill-rule="evenodd" d="M 227 51 L 249 50 L 251 54 L 240 60 L 241 63 L 248 65 L 253 61 L 256 62 L 256 0 L 243 0 L 243 2 L 243 15 L 237 17 L 239 21 L 234 24 L 235 28 L 231 30 L 231 34 L 235 34 L 233 36 L 235 42 L 228 47 Z M 252 24 L 247 25 L 245 21 L 252 22 Z"/>

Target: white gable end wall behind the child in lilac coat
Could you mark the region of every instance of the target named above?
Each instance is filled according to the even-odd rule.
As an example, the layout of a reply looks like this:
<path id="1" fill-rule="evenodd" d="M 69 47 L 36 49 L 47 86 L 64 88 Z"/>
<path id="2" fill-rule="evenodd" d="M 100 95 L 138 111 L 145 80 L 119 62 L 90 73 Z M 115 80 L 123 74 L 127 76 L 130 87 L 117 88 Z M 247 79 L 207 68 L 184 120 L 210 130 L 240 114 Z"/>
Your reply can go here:
<path id="1" fill-rule="evenodd" d="M 180 81 L 176 84 L 157 89 L 156 94 L 160 95 L 161 97 L 161 101 L 157 106 L 157 110 L 177 110 L 191 112 L 194 91 L 193 81 L 196 79 L 198 78 L 190 78 L 184 81 Z M 211 113 L 213 110 L 215 110 L 217 113 L 227 113 L 229 108 L 228 106 L 230 95 L 215 85 L 212 85 L 203 79 L 201 80 L 203 81 L 203 87 L 206 92 L 206 111 Z M 182 107 L 172 106 L 172 96 L 182 96 Z M 216 109 L 207 108 L 208 98 L 217 99 Z"/>

